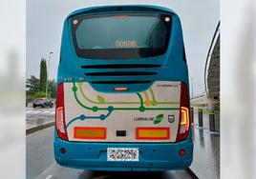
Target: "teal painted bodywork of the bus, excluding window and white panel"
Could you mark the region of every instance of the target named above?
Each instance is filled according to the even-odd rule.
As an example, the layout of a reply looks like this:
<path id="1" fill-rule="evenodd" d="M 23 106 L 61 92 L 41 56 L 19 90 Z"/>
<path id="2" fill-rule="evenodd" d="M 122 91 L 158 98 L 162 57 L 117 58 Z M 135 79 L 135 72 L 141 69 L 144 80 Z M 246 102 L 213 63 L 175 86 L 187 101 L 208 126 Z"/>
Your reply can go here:
<path id="1" fill-rule="evenodd" d="M 73 39 L 72 19 L 80 15 L 100 15 L 112 14 L 117 11 L 125 13 L 160 13 L 171 16 L 171 32 L 167 49 L 160 55 L 131 58 L 131 59 L 100 59 L 87 58 L 77 55 Z M 102 72 L 102 69 L 81 68 L 98 65 L 126 65 L 127 64 L 147 64 L 158 65 L 154 68 L 144 68 L 143 72 L 149 72 L 149 75 L 87 75 L 90 73 Z M 104 69 L 104 72 L 127 72 L 127 69 Z M 138 68 L 129 68 L 129 72 L 138 72 Z M 152 72 L 153 73 L 150 73 Z M 155 73 L 154 73 L 155 72 Z M 189 93 L 188 70 L 184 54 L 184 45 L 182 39 L 181 21 L 179 16 L 173 11 L 156 6 L 110 6 L 95 7 L 82 10 L 76 10 L 71 13 L 64 22 L 60 61 L 58 66 L 57 83 L 77 83 L 88 82 L 93 89 L 100 92 L 112 92 L 117 87 L 117 83 L 104 84 L 109 81 L 147 81 L 147 83 L 127 83 L 125 88 L 128 92 L 138 92 L 149 89 L 155 81 L 174 81 L 182 82 L 186 86 L 186 92 Z M 101 83 L 97 83 L 101 82 Z M 188 94 L 187 94 L 188 95 Z M 66 102 L 67 103 L 67 102 Z M 188 102 L 189 108 L 189 102 Z M 57 131 L 54 131 L 54 157 L 56 162 L 64 167 L 75 169 L 90 170 L 169 170 L 186 169 L 190 166 L 193 159 L 193 141 L 191 129 L 184 140 L 179 142 L 159 142 L 159 143 L 135 143 L 135 142 L 81 142 L 63 140 L 59 137 Z M 139 161 L 118 161 L 110 162 L 107 160 L 108 148 L 136 148 L 139 149 Z M 65 149 L 65 152 L 61 152 Z M 185 155 L 179 153 L 185 149 Z"/>

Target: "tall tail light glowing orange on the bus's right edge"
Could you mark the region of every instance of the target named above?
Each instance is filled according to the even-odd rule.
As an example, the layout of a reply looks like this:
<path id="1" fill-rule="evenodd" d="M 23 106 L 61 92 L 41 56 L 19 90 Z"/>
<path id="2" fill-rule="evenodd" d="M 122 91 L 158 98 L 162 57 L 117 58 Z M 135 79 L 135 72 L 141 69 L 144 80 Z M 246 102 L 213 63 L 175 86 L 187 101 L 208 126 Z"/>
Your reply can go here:
<path id="1" fill-rule="evenodd" d="M 189 132 L 189 97 L 186 85 L 181 82 L 181 109 L 180 109 L 180 123 L 177 133 L 176 142 L 186 139 Z"/>

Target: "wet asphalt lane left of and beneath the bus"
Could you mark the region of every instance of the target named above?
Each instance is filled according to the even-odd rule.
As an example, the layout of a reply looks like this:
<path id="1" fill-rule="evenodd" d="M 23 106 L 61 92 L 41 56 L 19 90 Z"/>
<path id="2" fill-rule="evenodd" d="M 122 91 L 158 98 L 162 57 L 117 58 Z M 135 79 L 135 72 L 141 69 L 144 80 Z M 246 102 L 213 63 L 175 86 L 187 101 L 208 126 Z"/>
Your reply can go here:
<path id="1" fill-rule="evenodd" d="M 53 158 L 53 127 L 28 135 L 26 146 L 27 179 L 192 178 L 184 170 L 165 172 L 105 172 L 60 167 Z"/>

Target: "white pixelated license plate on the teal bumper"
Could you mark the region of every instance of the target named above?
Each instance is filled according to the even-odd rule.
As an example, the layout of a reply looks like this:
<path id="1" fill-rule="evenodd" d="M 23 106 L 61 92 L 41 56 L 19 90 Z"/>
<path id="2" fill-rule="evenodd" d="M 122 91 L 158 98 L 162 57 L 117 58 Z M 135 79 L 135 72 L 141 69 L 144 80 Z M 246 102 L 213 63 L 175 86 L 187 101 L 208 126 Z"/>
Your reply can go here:
<path id="1" fill-rule="evenodd" d="M 139 148 L 108 148 L 108 161 L 139 161 Z"/>

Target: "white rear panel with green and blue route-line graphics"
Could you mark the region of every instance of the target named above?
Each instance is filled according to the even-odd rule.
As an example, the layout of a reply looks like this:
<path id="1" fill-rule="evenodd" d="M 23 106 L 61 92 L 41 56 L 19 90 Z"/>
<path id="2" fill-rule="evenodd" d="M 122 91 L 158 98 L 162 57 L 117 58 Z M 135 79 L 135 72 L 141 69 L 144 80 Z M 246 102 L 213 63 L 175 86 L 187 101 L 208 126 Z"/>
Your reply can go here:
<path id="1" fill-rule="evenodd" d="M 176 141 L 181 82 L 158 81 L 135 93 L 97 92 L 86 82 L 65 83 L 63 88 L 70 141 Z"/>

